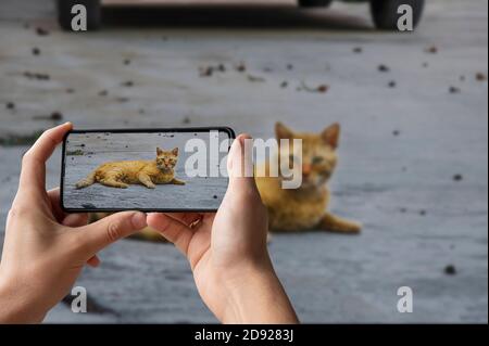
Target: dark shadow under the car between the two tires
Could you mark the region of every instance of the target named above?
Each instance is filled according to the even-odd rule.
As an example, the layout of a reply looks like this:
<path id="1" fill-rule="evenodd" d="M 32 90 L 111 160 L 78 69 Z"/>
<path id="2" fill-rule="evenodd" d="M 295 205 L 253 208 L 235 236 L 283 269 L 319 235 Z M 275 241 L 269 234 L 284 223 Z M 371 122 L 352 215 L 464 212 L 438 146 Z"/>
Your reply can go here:
<path id="1" fill-rule="evenodd" d="M 372 30 L 367 18 L 343 12 L 285 5 L 106 7 L 105 27 Z"/>

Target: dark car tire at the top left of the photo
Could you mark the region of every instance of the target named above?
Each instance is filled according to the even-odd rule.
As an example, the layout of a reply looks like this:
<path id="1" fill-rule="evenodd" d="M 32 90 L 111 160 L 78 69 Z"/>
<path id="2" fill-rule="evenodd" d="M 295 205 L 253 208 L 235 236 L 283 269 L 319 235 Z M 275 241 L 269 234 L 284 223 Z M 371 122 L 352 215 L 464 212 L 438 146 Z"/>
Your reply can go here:
<path id="1" fill-rule="evenodd" d="M 83 4 L 87 9 L 87 30 L 97 30 L 102 22 L 101 0 L 58 0 L 58 22 L 60 26 L 72 31 L 72 8 L 75 4 Z"/>

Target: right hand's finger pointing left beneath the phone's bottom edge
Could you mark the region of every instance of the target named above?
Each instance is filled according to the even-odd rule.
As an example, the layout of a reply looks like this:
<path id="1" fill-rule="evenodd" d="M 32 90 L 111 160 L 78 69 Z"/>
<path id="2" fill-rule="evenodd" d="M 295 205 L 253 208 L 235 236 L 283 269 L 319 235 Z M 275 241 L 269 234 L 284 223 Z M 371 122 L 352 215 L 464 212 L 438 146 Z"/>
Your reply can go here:
<path id="1" fill-rule="evenodd" d="M 185 255 L 188 255 L 188 245 L 193 236 L 192 230 L 177 219 L 165 214 L 148 214 L 148 225 L 159 231 L 168 242 Z"/>

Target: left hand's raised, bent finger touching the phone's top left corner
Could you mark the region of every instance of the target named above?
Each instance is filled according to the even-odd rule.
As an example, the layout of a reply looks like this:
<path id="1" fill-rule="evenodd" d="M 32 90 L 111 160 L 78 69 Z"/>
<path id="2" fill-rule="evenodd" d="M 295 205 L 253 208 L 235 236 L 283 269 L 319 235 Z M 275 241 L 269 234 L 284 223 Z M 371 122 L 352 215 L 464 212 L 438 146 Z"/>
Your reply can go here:
<path id="1" fill-rule="evenodd" d="M 73 128 L 71 123 L 45 131 L 22 158 L 20 190 L 45 193 L 46 161 L 51 156 L 63 137 Z"/>

